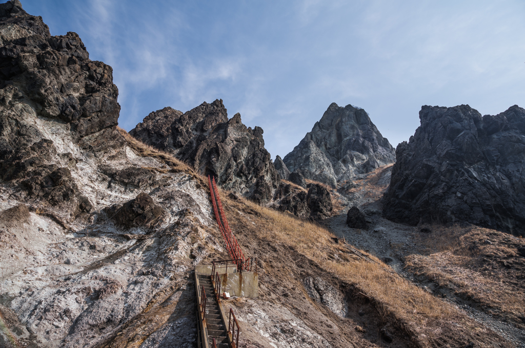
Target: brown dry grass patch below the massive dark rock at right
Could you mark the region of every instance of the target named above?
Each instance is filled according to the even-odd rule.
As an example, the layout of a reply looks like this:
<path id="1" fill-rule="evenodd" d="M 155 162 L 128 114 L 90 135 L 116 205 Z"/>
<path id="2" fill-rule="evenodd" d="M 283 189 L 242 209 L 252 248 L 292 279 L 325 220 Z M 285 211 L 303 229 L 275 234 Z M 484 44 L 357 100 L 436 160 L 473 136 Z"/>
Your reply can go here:
<path id="1" fill-rule="evenodd" d="M 420 237 L 426 255 L 407 257 L 407 269 L 525 328 L 519 319 L 525 317 L 525 260 L 517 254 L 519 238 L 482 227 L 429 228 L 432 233 Z"/>

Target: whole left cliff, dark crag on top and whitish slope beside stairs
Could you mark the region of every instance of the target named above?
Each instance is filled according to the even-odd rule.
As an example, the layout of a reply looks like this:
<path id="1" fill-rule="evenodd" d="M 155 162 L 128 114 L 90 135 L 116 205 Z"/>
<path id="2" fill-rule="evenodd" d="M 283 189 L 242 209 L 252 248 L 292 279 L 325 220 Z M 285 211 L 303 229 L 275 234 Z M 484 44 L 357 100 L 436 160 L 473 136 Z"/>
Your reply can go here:
<path id="1" fill-rule="evenodd" d="M 215 250 L 202 238 L 219 245 L 205 183 L 127 140 L 117 95 L 77 34 L 50 36 L 17 0 L 0 4 L 2 347 L 133 341 L 117 332 L 172 295 L 180 316 L 148 321 L 140 342 L 195 341 L 191 280 L 174 275 Z"/>

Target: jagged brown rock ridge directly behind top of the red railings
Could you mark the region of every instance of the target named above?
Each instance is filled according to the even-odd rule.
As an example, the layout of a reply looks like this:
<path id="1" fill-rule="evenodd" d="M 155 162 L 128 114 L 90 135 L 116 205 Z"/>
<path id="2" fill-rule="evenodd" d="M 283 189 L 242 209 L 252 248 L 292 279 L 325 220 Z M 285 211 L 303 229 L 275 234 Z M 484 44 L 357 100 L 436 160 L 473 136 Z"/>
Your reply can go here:
<path id="1" fill-rule="evenodd" d="M 184 114 L 164 108 L 130 132 L 145 144 L 171 151 L 204 175 L 215 176 L 224 189 L 266 203 L 279 178 L 262 133 L 260 127 L 246 127 L 238 113 L 228 119 L 222 100 L 204 102 Z"/>

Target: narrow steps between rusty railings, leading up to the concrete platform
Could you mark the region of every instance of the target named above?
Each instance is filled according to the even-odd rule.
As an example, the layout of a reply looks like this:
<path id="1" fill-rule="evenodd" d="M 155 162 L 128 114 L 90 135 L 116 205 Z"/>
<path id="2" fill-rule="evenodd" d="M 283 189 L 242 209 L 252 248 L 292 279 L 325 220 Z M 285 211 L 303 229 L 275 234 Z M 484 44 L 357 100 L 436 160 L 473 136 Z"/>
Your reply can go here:
<path id="1" fill-rule="evenodd" d="M 215 340 L 217 348 L 229 348 L 226 324 L 220 315 L 220 307 L 212 280 L 209 275 L 199 274 L 198 281 L 199 285 L 204 289 L 204 293 L 201 296 L 206 296 L 206 313 L 204 318 L 206 320 L 209 345 L 214 347 L 213 342 Z"/>

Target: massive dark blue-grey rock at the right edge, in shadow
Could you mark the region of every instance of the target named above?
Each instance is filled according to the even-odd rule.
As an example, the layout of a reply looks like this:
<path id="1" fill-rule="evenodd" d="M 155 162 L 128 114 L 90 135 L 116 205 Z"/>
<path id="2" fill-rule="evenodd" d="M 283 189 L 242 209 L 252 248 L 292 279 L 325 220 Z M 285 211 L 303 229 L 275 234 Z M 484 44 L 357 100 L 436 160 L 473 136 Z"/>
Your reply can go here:
<path id="1" fill-rule="evenodd" d="M 462 222 L 525 234 L 525 110 L 481 116 L 468 105 L 423 106 L 397 146 L 385 194 L 388 219 Z"/>

